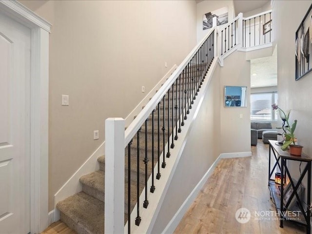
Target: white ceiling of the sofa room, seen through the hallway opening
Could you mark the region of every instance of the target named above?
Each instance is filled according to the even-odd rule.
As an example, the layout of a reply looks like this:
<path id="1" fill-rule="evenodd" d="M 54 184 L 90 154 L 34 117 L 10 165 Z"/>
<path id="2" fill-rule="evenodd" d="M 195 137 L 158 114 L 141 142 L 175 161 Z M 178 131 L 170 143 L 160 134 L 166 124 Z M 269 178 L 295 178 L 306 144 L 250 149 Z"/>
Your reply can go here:
<path id="1" fill-rule="evenodd" d="M 250 75 L 252 88 L 277 86 L 277 53 L 276 47 L 273 56 L 253 59 L 250 61 Z M 256 74 L 253 76 L 253 74 Z"/>

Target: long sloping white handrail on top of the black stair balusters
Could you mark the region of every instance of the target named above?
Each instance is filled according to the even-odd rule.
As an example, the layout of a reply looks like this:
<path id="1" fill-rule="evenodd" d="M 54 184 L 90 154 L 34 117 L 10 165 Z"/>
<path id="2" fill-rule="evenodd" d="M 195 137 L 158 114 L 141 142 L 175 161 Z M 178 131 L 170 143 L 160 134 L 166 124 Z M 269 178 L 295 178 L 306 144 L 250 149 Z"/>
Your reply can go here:
<path id="1" fill-rule="evenodd" d="M 131 139 L 136 135 L 139 128 L 143 125 L 145 120 L 150 116 L 152 111 L 156 108 L 156 105 L 161 101 L 164 95 L 167 93 L 169 88 L 176 81 L 178 76 L 182 73 L 185 66 L 193 58 L 200 46 L 205 42 L 205 40 L 215 31 L 216 27 L 212 27 L 207 33 L 206 37 L 202 39 L 195 48 L 189 53 L 189 55 L 182 61 L 182 63 L 176 68 L 176 71 L 166 80 L 166 82 L 157 91 L 154 97 L 146 104 L 142 111 L 137 115 L 137 117 L 131 122 L 129 127 L 125 131 L 125 147 L 131 141 Z M 216 41 L 215 41 L 216 43 Z M 215 47 L 216 48 L 216 47 Z"/>

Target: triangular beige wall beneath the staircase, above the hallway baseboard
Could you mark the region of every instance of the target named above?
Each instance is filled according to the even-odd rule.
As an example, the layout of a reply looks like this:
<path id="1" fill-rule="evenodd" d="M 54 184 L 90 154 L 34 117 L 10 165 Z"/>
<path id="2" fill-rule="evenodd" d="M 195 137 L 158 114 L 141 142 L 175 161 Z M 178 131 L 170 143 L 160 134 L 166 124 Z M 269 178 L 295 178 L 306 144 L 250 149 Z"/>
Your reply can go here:
<path id="1" fill-rule="evenodd" d="M 160 208 L 153 234 L 159 234 L 165 229 L 220 154 L 220 93 L 217 88 L 220 86 L 219 73 L 220 67 L 217 65 Z"/>

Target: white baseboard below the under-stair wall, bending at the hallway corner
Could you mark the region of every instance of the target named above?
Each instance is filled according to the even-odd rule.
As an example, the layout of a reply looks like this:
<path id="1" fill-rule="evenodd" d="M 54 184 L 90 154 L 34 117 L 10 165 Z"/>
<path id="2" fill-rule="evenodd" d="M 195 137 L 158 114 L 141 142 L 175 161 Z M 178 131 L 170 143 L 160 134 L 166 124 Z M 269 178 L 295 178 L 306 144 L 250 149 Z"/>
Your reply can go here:
<path id="1" fill-rule="evenodd" d="M 211 174 L 214 172 L 216 165 L 219 163 L 220 159 L 222 158 L 234 158 L 234 157 L 249 157 L 252 156 L 252 152 L 238 152 L 238 153 L 222 153 L 220 154 L 216 159 L 215 162 L 211 165 L 211 167 L 208 169 L 208 171 L 205 173 L 205 175 L 201 178 L 201 180 L 197 183 L 193 191 L 190 193 L 190 195 L 185 199 L 181 207 L 178 209 L 176 214 L 173 216 L 173 218 L 170 220 L 162 234 L 171 234 L 174 233 L 176 230 L 177 225 L 182 220 L 183 216 L 187 212 L 187 210 L 190 208 L 192 203 L 194 202 L 196 196 L 198 195 L 199 191 L 204 186 L 207 179 L 211 176 Z"/>

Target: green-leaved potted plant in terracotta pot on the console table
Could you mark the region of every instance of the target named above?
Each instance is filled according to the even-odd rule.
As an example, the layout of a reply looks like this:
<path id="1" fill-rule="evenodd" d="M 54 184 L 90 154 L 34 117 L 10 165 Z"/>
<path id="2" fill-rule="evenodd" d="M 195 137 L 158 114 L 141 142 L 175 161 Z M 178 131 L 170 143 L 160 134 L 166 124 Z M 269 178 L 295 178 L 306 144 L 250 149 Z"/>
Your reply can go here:
<path id="1" fill-rule="evenodd" d="M 286 126 L 283 125 L 283 127 L 278 128 L 278 129 L 283 129 L 283 137 L 284 137 L 284 143 L 281 146 L 282 150 L 287 150 L 288 147 L 290 147 L 290 154 L 291 155 L 301 155 L 301 151 L 303 146 L 301 145 L 296 145 L 297 138 L 294 135 L 294 130 L 296 129 L 297 126 L 297 120 L 295 119 L 292 125 L 289 124 L 289 115 L 291 112 L 289 112 L 287 115 L 285 112 L 279 108 L 276 104 L 272 105 L 273 110 L 278 110 L 279 115 L 282 118 L 284 122 L 287 123 Z"/>

